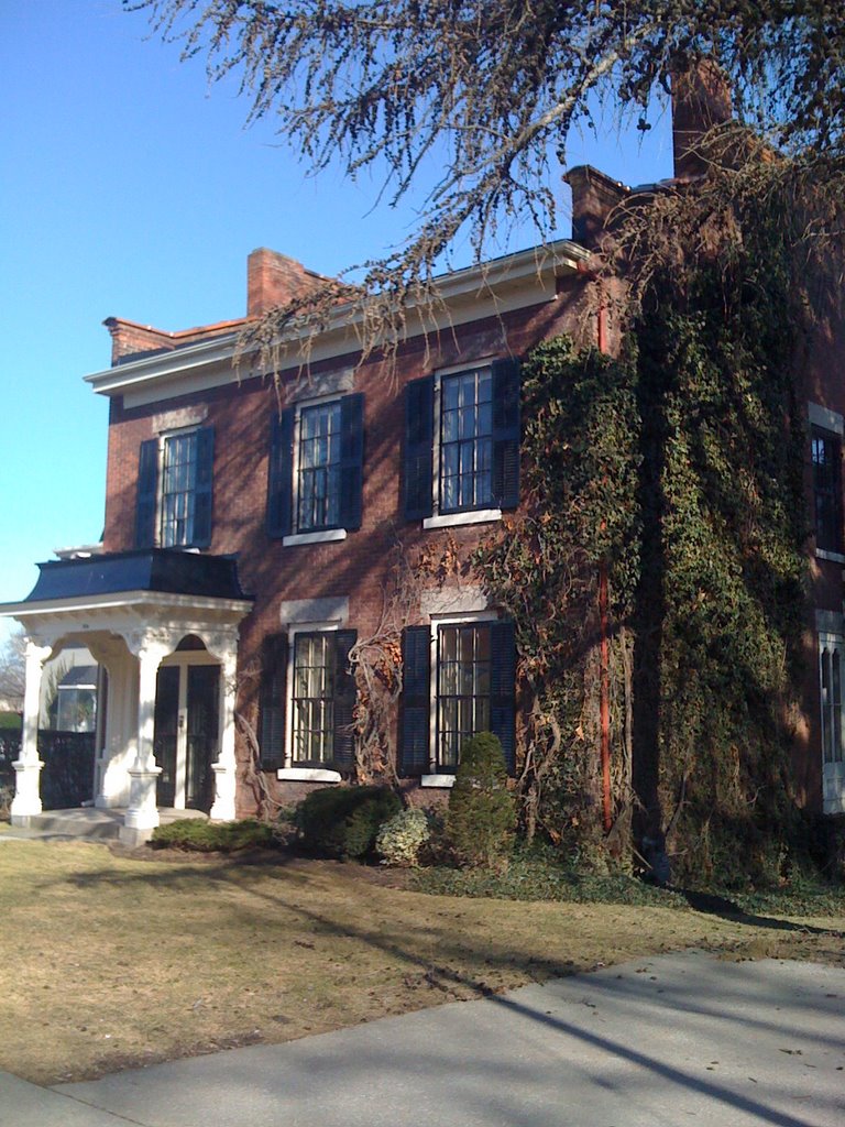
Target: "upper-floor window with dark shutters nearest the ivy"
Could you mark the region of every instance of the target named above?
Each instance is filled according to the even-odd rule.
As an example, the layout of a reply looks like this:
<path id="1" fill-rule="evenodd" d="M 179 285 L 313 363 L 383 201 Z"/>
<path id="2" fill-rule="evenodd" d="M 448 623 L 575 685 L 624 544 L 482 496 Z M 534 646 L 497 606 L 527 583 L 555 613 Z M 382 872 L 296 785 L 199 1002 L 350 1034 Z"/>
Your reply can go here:
<path id="1" fill-rule="evenodd" d="M 519 504 L 516 361 L 412 380 L 404 396 L 407 520 L 450 518 Z"/>

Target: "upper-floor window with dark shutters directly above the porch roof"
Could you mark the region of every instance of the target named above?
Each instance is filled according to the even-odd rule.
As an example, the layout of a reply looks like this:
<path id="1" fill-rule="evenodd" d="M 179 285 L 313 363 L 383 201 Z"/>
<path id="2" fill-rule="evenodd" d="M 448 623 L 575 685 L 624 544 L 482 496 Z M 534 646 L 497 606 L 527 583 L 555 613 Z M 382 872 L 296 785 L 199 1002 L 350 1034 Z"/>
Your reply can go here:
<path id="1" fill-rule="evenodd" d="M 214 429 L 198 427 L 141 443 L 135 547 L 211 543 Z"/>

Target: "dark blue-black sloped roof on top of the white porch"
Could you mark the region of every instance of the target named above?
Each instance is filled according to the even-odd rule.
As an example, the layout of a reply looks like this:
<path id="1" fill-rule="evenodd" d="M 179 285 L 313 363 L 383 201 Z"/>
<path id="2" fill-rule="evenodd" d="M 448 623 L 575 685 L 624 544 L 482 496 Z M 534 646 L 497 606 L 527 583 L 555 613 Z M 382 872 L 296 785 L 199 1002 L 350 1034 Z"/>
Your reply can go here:
<path id="1" fill-rule="evenodd" d="M 251 597 L 241 589 L 238 565 L 231 556 L 201 556 L 152 548 L 88 559 L 50 560 L 39 564 L 38 570 L 38 582 L 25 598 L 26 603 L 133 591 L 198 598 Z"/>

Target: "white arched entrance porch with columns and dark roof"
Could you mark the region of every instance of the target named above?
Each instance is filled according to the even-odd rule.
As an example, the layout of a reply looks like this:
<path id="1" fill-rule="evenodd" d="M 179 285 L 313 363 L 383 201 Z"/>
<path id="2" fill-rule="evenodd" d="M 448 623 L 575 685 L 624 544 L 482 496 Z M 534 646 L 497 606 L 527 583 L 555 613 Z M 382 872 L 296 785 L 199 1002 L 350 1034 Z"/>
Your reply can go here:
<path id="1" fill-rule="evenodd" d="M 234 559 L 150 549 L 39 565 L 11 615 L 27 636 L 12 825 L 42 814 L 37 731 L 44 665 L 83 642 L 104 671 L 94 805 L 124 810 L 121 838 L 146 841 L 160 808 L 235 816 L 238 624 L 252 601 Z"/>

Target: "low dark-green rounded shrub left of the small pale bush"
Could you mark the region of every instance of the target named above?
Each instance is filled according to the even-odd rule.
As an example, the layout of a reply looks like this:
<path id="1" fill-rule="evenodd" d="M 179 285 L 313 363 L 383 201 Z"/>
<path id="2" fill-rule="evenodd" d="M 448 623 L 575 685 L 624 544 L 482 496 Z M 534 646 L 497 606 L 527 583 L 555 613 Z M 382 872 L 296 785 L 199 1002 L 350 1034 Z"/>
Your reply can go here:
<path id="1" fill-rule="evenodd" d="M 380 827 L 401 808 L 389 787 L 327 787 L 300 804 L 296 826 L 306 849 L 362 858 L 373 852 Z"/>

